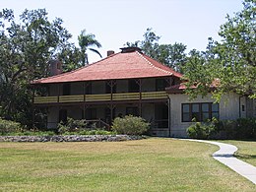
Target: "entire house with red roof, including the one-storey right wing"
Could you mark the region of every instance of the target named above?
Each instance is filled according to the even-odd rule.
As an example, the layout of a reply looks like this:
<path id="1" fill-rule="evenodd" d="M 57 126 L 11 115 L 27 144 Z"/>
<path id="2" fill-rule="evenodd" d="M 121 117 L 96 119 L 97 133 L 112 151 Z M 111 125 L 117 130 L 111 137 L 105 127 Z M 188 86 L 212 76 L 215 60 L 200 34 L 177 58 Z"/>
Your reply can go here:
<path id="1" fill-rule="evenodd" d="M 186 137 L 193 117 L 255 115 L 253 101 L 245 96 L 229 94 L 220 104 L 210 95 L 189 100 L 183 93 L 182 75 L 138 47 L 108 53 L 96 63 L 63 74 L 61 63 L 52 62 L 53 76 L 32 82 L 35 89 L 45 90 L 45 96 L 33 97 L 34 109 L 47 113 L 45 127 L 55 129 L 67 117 L 99 121 L 107 127 L 115 117 L 132 114 L 151 122 L 152 135 Z"/>

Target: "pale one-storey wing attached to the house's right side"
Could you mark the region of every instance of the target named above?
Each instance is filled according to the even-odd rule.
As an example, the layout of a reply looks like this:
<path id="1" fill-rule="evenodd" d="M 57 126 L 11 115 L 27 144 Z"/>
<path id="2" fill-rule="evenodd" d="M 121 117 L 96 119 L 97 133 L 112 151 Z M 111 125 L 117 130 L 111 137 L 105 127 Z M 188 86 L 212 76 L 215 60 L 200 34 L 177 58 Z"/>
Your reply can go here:
<path id="1" fill-rule="evenodd" d="M 184 94 L 184 90 L 184 84 L 166 88 L 170 103 L 171 137 L 187 137 L 186 129 L 191 125 L 193 118 L 197 121 L 205 121 L 213 117 L 219 120 L 256 117 L 256 101 L 248 96 L 230 92 L 216 103 L 211 94 L 190 100 L 189 96 Z"/>

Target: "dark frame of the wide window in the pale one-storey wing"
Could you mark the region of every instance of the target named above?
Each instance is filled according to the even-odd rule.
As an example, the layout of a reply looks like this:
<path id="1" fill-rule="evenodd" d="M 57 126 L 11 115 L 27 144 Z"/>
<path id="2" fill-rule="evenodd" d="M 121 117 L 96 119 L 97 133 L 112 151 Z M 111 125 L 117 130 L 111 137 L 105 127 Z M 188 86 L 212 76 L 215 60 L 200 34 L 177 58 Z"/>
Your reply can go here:
<path id="1" fill-rule="evenodd" d="M 208 104 L 208 110 L 203 109 L 203 105 Z M 214 109 L 213 105 L 217 104 L 217 109 Z M 193 106 L 199 106 L 199 111 L 193 111 Z M 184 112 L 184 106 L 188 106 L 188 112 Z M 204 118 L 204 115 L 208 114 L 208 118 Z M 188 116 L 187 116 L 188 115 Z M 187 120 L 185 119 L 187 116 Z M 182 122 L 192 122 L 192 119 L 198 116 L 199 119 L 196 119 L 198 122 L 203 122 L 206 119 L 212 119 L 216 117 L 219 119 L 220 117 L 220 105 L 219 103 L 213 102 L 192 102 L 192 103 L 181 103 L 181 121 Z"/>

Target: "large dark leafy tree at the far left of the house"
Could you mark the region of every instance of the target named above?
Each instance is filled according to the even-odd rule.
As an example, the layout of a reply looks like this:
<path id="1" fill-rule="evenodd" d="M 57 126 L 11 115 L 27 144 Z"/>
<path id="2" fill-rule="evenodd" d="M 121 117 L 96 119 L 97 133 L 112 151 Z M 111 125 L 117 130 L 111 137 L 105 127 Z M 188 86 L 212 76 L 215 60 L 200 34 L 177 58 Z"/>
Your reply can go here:
<path id="1" fill-rule="evenodd" d="M 73 46 L 62 20 L 48 21 L 44 9 L 25 10 L 20 22 L 12 10 L 0 12 L 0 116 L 32 125 L 30 82 L 47 77 L 48 61 Z"/>

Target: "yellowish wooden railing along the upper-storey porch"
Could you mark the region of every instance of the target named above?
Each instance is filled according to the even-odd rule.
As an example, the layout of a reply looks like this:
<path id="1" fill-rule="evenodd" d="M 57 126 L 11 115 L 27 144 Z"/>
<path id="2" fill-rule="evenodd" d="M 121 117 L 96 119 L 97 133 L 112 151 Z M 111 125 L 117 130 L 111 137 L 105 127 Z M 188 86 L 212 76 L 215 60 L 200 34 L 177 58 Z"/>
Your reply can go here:
<path id="1" fill-rule="evenodd" d="M 75 96 L 35 96 L 33 103 L 64 103 L 64 102 L 92 102 L 92 101 L 119 101 L 119 100 L 139 100 L 139 99 L 160 99 L 167 98 L 165 92 L 145 92 L 145 93 L 122 93 L 122 94 L 100 94 L 100 95 L 75 95 Z"/>

